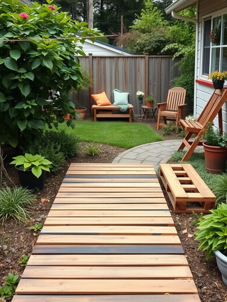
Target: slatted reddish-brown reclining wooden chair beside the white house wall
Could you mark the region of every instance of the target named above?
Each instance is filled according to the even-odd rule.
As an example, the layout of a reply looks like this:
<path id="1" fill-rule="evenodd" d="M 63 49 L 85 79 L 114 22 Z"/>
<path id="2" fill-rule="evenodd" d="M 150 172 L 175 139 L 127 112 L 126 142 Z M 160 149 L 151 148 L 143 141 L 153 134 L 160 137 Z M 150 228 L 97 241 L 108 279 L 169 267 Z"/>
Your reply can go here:
<path id="1" fill-rule="evenodd" d="M 202 113 L 199 115 L 196 122 L 191 120 L 180 120 L 180 125 L 183 127 L 185 131 L 188 133 L 186 137 L 183 139 L 182 144 L 179 146 L 177 151 L 183 150 L 184 147 L 188 148 L 185 156 L 183 157 L 182 161 L 187 161 L 196 147 L 198 145 L 202 145 L 202 142 L 199 141 L 199 138 L 204 134 L 205 130 L 207 129 L 208 122 L 212 122 L 215 119 L 215 116 L 218 114 L 218 122 L 219 122 L 219 129 L 222 133 L 222 105 L 227 100 L 227 89 L 216 89 L 212 94 L 211 98 L 207 102 L 205 108 L 203 109 Z M 193 142 L 189 142 L 189 138 L 192 134 L 198 133 L 197 137 Z"/>

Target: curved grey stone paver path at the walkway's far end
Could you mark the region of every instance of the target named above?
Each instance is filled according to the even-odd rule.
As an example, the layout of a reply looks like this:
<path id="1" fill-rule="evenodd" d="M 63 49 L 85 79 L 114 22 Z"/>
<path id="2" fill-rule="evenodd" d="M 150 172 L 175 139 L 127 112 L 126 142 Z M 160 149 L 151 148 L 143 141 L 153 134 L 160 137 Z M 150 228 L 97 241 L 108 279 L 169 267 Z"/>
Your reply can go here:
<path id="1" fill-rule="evenodd" d="M 166 162 L 181 143 L 182 140 L 166 140 L 136 146 L 120 153 L 113 163 L 153 164 L 155 171 L 158 171 L 160 162 Z M 195 151 L 201 152 L 202 149 L 203 146 L 198 146 Z"/>

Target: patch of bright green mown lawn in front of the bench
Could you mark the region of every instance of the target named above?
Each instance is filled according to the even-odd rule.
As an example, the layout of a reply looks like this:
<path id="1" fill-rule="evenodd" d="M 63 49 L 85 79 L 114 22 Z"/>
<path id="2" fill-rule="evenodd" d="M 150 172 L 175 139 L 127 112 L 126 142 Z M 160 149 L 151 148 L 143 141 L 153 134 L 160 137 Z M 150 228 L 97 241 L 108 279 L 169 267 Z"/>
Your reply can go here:
<path id="1" fill-rule="evenodd" d="M 74 121 L 74 123 L 74 129 L 63 123 L 59 124 L 59 130 L 64 129 L 72 135 L 79 136 L 81 142 L 96 142 L 129 149 L 163 140 L 145 124 L 109 121 L 96 123 Z"/>

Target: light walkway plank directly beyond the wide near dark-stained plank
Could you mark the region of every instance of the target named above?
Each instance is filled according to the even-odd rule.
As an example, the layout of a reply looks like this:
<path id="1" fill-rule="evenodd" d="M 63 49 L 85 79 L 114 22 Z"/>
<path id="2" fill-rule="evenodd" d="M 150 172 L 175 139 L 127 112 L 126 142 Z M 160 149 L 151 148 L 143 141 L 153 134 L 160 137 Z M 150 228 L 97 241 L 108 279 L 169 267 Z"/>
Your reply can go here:
<path id="1" fill-rule="evenodd" d="M 77 244 L 159 244 L 159 245 L 179 245 L 180 239 L 173 235 L 43 235 L 38 236 L 36 244 L 38 245 L 77 245 Z"/>

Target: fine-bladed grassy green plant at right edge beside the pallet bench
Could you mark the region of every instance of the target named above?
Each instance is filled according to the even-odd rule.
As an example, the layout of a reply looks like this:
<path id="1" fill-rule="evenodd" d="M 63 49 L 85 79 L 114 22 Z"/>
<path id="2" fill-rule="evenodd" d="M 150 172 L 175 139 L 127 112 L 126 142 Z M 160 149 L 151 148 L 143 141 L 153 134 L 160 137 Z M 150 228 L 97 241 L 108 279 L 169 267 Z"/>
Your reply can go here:
<path id="1" fill-rule="evenodd" d="M 216 203 L 224 202 L 227 204 L 227 174 L 222 173 L 215 178 L 213 193 L 216 196 Z"/>

